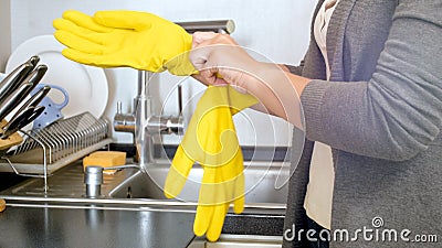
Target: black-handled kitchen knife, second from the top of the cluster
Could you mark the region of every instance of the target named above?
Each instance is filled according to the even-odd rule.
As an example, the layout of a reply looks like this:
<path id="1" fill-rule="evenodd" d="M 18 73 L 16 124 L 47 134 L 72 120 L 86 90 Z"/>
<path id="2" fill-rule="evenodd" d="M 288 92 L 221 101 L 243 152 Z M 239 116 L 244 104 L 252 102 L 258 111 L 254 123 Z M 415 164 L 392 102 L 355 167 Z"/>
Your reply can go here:
<path id="1" fill-rule="evenodd" d="M 0 103 L 0 120 L 4 119 L 20 103 L 31 93 L 31 90 L 39 84 L 41 78 L 48 71 L 48 66 L 39 65 L 30 75 L 24 79 L 24 83 L 10 94 L 2 103 Z"/>

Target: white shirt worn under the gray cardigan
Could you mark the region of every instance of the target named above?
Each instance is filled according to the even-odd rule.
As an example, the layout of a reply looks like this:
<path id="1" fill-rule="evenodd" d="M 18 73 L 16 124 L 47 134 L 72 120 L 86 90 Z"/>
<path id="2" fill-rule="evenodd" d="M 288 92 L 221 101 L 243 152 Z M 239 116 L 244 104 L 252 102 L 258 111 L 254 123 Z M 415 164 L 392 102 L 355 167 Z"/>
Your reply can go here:
<path id="1" fill-rule="evenodd" d="M 330 67 L 327 57 L 326 37 L 328 23 L 338 1 L 325 0 L 316 15 L 314 25 L 315 40 L 326 65 L 327 80 L 330 77 Z M 332 225 L 334 184 L 335 170 L 333 166 L 332 148 L 316 141 L 311 162 L 309 182 L 305 195 L 304 208 L 309 218 L 327 229 L 330 229 Z"/>

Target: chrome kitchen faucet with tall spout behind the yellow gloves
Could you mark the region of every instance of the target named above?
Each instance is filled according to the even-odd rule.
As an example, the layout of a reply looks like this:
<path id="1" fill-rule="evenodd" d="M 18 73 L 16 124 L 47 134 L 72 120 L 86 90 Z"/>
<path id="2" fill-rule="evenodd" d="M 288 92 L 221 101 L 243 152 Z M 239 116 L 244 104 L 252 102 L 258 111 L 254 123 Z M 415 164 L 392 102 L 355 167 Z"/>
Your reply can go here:
<path id="1" fill-rule="evenodd" d="M 187 32 L 212 31 L 217 33 L 232 33 L 234 22 L 232 20 L 200 21 L 177 23 Z M 151 109 L 151 95 L 149 94 L 149 80 L 152 74 L 146 71 L 138 72 L 138 93 L 134 99 L 133 114 L 122 112 L 122 103 L 117 103 L 117 112 L 114 117 L 114 130 L 131 132 L 134 134 L 135 157 L 134 162 L 139 169 L 146 172 L 154 162 L 154 139 L 155 134 L 182 133 L 183 121 L 178 117 L 154 115 Z M 179 115 L 182 110 L 181 86 L 178 86 Z"/>

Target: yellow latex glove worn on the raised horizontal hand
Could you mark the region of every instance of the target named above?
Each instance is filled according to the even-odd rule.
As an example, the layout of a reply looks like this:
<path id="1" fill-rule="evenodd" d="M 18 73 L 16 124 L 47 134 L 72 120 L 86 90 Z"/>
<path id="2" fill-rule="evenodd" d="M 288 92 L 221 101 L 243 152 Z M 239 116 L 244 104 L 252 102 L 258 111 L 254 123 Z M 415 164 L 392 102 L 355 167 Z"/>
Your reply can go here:
<path id="1" fill-rule="evenodd" d="M 196 73 L 188 58 L 192 36 L 181 26 L 137 11 L 98 11 L 93 17 L 75 10 L 53 21 L 54 36 L 69 48 L 62 54 L 99 67 L 128 66 L 186 76 Z"/>

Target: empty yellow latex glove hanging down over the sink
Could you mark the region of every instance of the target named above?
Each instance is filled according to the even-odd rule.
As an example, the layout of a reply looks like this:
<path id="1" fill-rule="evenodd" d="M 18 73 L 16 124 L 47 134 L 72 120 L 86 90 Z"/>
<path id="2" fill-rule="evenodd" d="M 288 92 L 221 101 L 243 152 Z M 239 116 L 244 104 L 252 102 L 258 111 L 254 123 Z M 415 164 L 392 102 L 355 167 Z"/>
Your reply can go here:
<path id="1" fill-rule="evenodd" d="M 165 183 L 165 195 L 177 197 L 197 162 L 203 168 L 193 233 L 219 238 L 231 203 L 244 208 L 243 157 L 232 116 L 257 104 L 256 98 L 230 86 L 209 86 L 189 122 Z"/>

